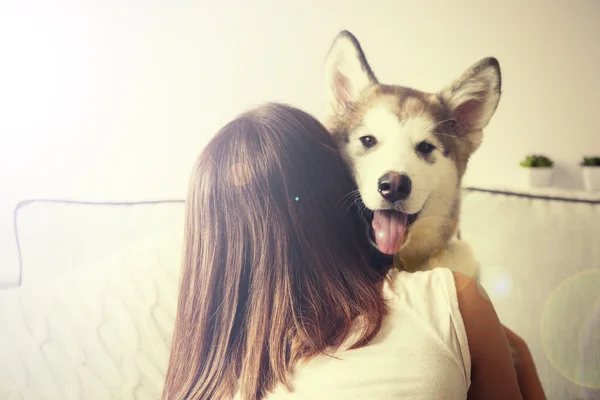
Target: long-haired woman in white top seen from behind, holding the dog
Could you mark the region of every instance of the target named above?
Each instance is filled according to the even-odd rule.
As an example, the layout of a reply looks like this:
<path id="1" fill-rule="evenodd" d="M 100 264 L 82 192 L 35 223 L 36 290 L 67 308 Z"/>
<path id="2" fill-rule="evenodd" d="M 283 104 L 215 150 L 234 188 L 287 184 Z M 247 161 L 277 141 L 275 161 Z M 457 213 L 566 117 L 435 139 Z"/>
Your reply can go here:
<path id="1" fill-rule="evenodd" d="M 165 399 L 521 398 L 481 288 L 380 267 L 354 189 L 298 109 L 218 132 L 191 178 Z"/>

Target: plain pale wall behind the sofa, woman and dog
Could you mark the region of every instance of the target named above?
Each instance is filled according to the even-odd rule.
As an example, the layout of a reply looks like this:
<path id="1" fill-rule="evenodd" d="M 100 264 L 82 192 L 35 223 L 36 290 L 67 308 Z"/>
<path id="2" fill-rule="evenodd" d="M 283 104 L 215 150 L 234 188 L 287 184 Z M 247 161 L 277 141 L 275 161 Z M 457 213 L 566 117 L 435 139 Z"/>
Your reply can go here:
<path id="1" fill-rule="evenodd" d="M 593 0 L 0 4 L 0 254 L 19 199 L 181 198 L 202 145 L 241 110 L 319 114 L 341 29 L 380 80 L 423 90 L 500 60 L 504 95 L 467 184 L 510 184 L 535 151 L 579 187 L 578 159 L 600 153 Z"/>

